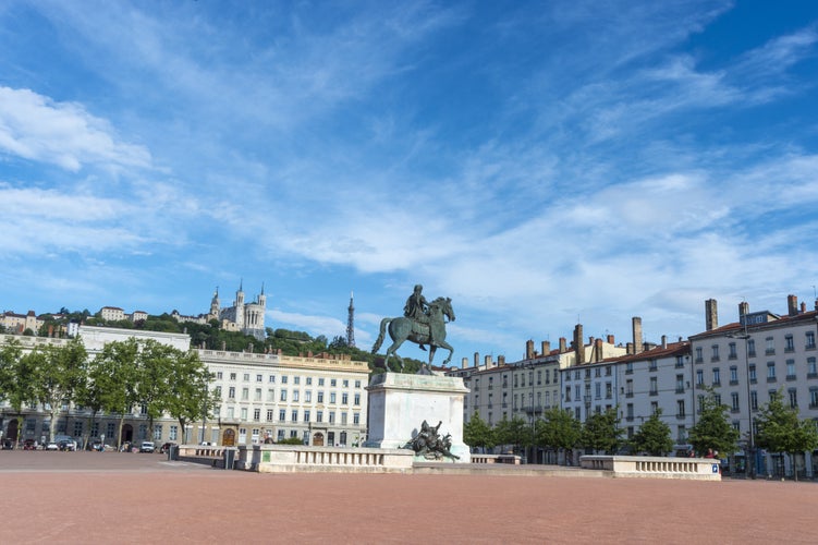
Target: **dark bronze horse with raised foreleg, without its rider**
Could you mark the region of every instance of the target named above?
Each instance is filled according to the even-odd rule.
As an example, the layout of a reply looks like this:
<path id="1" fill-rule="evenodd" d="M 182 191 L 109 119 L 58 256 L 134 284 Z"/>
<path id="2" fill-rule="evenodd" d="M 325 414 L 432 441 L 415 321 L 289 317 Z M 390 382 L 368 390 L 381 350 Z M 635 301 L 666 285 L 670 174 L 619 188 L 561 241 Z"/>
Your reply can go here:
<path id="1" fill-rule="evenodd" d="M 424 324 L 406 316 L 396 318 L 383 318 L 380 320 L 380 335 L 375 341 L 373 353 L 376 353 L 383 344 L 386 338 L 387 324 L 389 324 L 389 336 L 392 338 L 392 346 L 387 349 L 387 355 L 383 360 L 383 367 L 389 371 L 389 356 L 394 355 L 401 364 L 403 372 L 403 360 L 398 355 L 396 350 L 401 348 L 404 341 L 408 340 L 415 344 L 429 346 L 429 363 L 424 364 L 424 370 L 430 372 L 431 361 L 435 358 L 435 351 L 438 348 L 449 350 L 449 356 L 443 361 L 443 365 L 449 363 L 454 353 L 451 344 L 445 342 L 445 318 L 454 322 L 454 311 L 452 310 L 452 300 L 450 298 L 438 298 L 429 303 L 429 323 Z M 429 336 L 431 329 L 431 337 Z M 424 371 L 422 370 L 422 372 Z"/>

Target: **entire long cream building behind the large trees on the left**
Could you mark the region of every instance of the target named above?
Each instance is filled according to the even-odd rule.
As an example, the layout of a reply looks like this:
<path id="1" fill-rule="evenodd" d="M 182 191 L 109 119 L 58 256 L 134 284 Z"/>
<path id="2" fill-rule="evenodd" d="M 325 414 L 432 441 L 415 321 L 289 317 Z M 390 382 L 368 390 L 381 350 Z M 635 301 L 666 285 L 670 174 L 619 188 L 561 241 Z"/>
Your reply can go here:
<path id="1" fill-rule="evenodd" d="M 108 327 L 80 326 L 80 338 L 94 358 L 111 341 L 129 338 L 152 339 L 179 350 L 190 350 L 185 334 L 167 334 Z M 0 343 L 12 339 L 24 351 L 37 346 L 63 346 L 68 339 L 0 336 Z M 196 350 L 212 373 L 211 391 L 221 402 L 202 421 L 181 428 L 169 416 L 154 421 L 148 429 L 144 408 L 134 407 L 125 415 L 122 441 L 154 440 L 157 443 L 210 443 L 215 445 L 249 445 L 265 439 L 298 437 L 313 445 L 352 446 L 363 443 L 367 424 L 366 389 L 369 368 L 366 362 L 319 356 L 295 358 L 281 354 L 258 354 Z M 97 413 L 91 420 L 88 409 L 75 404 L 61 408 L 54 426 L 57 434 L 77 440 L 103 440 L 119 444 L 120 415 Z M 41 443 L 47 439 L 49 415 L 38 404 L 22 411 L 22 428 L 17 414 L 8 401 L 0 401 L 0 432 L 3 438 Z"/>

